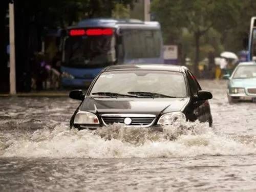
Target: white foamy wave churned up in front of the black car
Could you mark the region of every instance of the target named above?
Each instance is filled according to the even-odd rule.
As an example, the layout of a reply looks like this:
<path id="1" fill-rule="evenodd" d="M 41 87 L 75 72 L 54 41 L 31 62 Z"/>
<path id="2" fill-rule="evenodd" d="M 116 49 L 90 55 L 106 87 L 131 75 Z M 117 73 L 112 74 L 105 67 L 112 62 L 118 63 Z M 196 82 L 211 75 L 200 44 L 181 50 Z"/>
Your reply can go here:
<path id="1" fill-rule="evenodd" d="M 256 142 L 216 134 L 206 123 L 186 122 L 163 132 L 121 124 L 97 131 L 57 125 L 19 138 L 0 136 L 0 157 L 152 158 L 256 154 Z"/>

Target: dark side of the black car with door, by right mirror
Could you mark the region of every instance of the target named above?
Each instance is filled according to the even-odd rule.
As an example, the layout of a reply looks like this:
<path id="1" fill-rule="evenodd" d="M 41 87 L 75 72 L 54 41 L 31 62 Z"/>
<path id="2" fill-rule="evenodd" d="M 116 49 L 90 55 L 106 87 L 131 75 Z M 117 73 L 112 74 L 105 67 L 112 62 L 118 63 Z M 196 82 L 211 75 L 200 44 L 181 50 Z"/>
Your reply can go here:
<path id="1" fill-rule="evenodd" d="M 202 90 L 196 77 L 190 72 L 187 71 L 188 84 L 190 88 L 190 117 L 193 120 L 199 120 L 200 122 L 209 122 L 209 125 L 212 123 L 210 115 L 210 106 L 208 100 L 198 100 L 198 91 Z M 192 119 L 191 119 L 192 120 Z"/>

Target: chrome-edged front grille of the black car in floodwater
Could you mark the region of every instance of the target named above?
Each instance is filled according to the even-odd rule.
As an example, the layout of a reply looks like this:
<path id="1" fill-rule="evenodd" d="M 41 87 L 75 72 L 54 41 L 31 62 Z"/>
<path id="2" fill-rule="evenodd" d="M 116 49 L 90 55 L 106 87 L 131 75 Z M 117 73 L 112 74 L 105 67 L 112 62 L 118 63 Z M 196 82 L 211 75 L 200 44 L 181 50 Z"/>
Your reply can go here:
<path id="1" fill-rule="evenodd" d="M 105 125 L 114 123 L 125 123 L 125 118 L 130 118 L 132 121 L 126 126 L 151 126 L 156 119 L 155 115 L 150 114 L 103 114 L 101 119 Z"/>

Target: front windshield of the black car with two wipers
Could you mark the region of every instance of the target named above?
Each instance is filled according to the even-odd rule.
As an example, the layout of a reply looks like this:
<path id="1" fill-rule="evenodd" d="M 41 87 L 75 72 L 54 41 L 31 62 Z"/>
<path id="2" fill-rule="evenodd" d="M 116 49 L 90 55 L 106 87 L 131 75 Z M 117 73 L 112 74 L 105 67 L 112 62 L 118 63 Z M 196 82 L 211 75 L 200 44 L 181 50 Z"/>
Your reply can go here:
<path id="1" fill-rule="evenodd" d="M 112 71 L 102 73 L 95 82 L 90 96 L 136 95 L 141 97 L 186 97 L 184 75 L 165 71 Z"/>

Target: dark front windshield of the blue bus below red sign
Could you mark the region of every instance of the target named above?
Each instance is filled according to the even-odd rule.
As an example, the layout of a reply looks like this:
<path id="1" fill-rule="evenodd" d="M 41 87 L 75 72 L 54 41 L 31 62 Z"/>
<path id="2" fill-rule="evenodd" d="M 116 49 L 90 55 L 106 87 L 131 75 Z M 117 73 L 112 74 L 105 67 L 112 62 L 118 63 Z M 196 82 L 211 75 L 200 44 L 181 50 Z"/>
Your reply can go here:
<path id="1" fill-rule="evenodd" d="M 70 36 L 65 42 L 68 66 L 110 65 L 116 60 L 113 35 Z"/>

